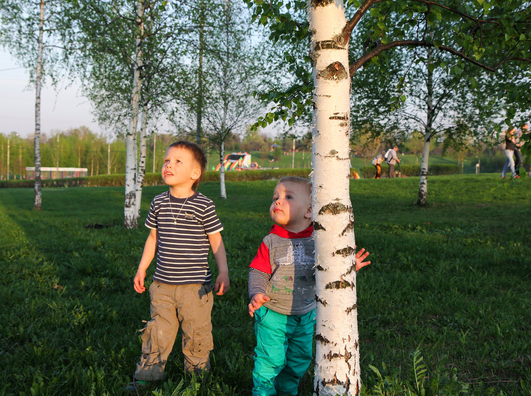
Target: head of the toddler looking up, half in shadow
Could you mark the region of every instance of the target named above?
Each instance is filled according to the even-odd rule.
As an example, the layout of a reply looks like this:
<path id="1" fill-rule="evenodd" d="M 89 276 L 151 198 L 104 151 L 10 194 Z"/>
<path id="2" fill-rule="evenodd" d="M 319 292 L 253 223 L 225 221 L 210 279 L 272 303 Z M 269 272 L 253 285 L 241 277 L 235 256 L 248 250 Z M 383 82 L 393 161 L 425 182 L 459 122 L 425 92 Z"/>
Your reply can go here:
<path id="1" fill-rule="evenodd" d="M 289 181 L 278 183 L 269 214 L 288 231 L 301 232 L 308 228 L 312 218 L 309 186 Z"/>

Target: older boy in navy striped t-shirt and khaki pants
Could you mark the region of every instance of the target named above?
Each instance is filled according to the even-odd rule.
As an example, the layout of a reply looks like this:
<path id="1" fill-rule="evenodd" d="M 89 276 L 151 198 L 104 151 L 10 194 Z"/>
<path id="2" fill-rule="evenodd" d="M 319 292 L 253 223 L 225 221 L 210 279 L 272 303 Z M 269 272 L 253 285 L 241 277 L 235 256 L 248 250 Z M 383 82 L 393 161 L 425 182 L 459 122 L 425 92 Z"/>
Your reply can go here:
<path id="1" fill-rule="evenodd" d="M 173 349 L 179 325 L 182 328 L 185 373 L 201 373 L 210 368 L 213 349 L 212 274 L 207 258 L 212 248 L 219 275 L 218 295 L 229 289 L 227 257 L 220 231 L 221 222 L 212 201 L 196 191 L 207 160 L 201 148 L 191 142 L 171 144 L 162 164 L 162 180 L 169 191 L 153 198 L 145 226 L 150 229 L 134 290 L 145 291 L 145 273 L 155 252 L 157 266 L 149 287 L 151 321 L 142 331 L 142 356 L 134 381 L 125 387 L 136 394 L 138 388 L 164 377 L 164 368 Z"/>

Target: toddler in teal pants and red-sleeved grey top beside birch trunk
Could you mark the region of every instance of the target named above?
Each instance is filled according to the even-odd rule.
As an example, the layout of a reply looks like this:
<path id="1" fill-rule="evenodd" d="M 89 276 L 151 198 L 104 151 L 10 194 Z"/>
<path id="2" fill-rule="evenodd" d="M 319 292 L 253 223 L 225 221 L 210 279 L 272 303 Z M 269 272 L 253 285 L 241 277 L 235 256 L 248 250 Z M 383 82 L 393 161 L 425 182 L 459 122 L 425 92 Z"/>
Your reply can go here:
<path id="1" fill-rule="evenodd" d="M 296 395 L 312 360 L 315 258 L 311 184 L 281 178 L 269 209 L 276 223 L 262 240 L 249 272 L 249 314 L 254 316 L 253 396 Z M 357 252 L 356 271 L 371 262 Z"/>

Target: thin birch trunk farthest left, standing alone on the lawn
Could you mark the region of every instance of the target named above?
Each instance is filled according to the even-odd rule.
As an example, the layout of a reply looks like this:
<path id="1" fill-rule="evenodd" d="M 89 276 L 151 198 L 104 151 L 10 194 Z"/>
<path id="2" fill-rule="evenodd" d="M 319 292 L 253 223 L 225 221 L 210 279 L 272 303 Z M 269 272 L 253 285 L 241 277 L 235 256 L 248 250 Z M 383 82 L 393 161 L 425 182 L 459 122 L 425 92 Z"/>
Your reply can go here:
<path id="1" fill-rule="evenodd" d="M 42 79 L 42 36 L 44 33 L 44 0 L 40 0 L 39 14 L 39 49 L 37 53 L 37 70 L 35 72 L 35 136 L 33 137 L 33 150 L 35 151 L 35 202 L 33 209 L 42 208 L 42 191 L 40 180 L 40 86 Z M 9 170 L 7 170 L 9 174 Z"/>

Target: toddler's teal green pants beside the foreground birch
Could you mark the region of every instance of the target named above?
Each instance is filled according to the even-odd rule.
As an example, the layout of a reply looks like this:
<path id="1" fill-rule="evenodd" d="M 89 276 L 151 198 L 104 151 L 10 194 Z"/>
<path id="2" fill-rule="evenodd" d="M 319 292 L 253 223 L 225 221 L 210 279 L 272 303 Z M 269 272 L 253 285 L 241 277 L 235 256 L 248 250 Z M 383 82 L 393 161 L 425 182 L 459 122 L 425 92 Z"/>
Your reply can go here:
<path id="1" fill-rule="evenodd" d="M 312 361 L 315 309 L 304 315 L 283 315 L 262 306 L 254 317 L 253 396 L 297 394 Z"/>

